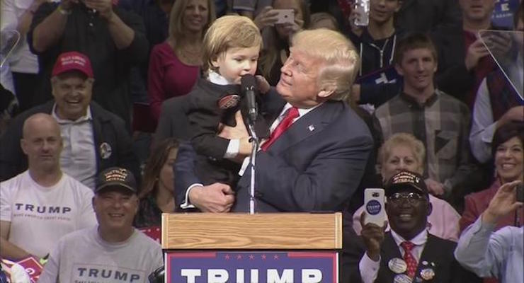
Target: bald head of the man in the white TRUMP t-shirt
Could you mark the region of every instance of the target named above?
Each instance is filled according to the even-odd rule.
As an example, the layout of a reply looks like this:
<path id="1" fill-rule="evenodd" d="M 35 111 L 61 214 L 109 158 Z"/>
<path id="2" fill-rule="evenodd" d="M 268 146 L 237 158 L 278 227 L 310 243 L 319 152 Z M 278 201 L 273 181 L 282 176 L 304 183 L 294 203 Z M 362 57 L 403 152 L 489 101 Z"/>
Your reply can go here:
<path id="1" fill-rule="evenodd" d="M 29 169 L 59 170 L 62 151 L 60 127 L 51 115 L 38 113 L 23 123 L 21 147 L 28 156 Z"/>

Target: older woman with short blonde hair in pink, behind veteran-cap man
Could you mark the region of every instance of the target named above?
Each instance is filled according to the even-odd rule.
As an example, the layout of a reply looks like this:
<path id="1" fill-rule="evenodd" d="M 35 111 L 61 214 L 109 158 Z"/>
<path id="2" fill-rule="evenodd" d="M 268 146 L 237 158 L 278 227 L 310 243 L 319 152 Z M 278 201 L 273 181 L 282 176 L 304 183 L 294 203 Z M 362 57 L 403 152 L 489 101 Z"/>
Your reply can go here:
<path id="1" fill-rule="evenodd" d="M 398 133 L 392 135 L 382 144 L 378 153 L 377 164 L 380 166 L 382 182 L 387 182 L 395 173 L 403 170 L 423 174 L 424 158 L 426 158 L 426 149 L 422 141 L 411 134 Z M 428 216 L 428 231 L 440 238 L 458 241 L 460 214 L 448 202 L 433 197 L 431 194 L 429 201 L 433 205 L 433 210 Z M 353 229 L 359 235 L 362 230 L 360 214 L 363 211 L 364 207 L 360 207 L 353 214 Z M 389 230 L 389 224 L 387 229 Z"/>

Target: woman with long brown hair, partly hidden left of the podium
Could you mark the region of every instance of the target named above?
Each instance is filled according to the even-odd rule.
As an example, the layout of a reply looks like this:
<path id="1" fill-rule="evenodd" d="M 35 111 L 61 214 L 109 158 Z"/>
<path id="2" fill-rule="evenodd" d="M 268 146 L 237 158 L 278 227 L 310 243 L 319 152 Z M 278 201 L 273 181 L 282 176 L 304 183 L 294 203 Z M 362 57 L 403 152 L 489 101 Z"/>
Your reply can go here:
<path id="1" fill-rule="evenodd" d="M 137 228 L 160 226 L 162 212 L 175 211 L 173 163 L 178 141 L 162 141 L 149 156 L 144 168 L 139 210 L 135 216 Z"/>

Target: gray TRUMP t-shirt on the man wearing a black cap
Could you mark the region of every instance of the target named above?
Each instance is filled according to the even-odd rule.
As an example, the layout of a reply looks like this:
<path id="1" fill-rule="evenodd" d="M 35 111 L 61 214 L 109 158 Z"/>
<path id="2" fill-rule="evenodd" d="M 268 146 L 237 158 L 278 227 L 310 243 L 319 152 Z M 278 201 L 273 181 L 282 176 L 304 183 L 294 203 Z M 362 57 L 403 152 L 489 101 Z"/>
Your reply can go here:
<path id="1" fill-rule="evenodd" d="M 162 250 L 135 229 L 121 243 L 108 243 L 98 226 L 69 233 L 59 240 L 40 275 L 39 283 L 148 282 L 148 275 L 164 265 Z"/>

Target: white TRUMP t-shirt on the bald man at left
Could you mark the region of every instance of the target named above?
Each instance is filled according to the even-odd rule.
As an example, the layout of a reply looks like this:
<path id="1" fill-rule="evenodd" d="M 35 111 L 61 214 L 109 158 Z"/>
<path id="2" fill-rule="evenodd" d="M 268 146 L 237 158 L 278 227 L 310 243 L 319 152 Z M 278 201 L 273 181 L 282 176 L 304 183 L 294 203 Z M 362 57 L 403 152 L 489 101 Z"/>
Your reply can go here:
<path id="1" fill-rule="evenodd" d="M 8 241 L 40 258 L 67 233 L 96 226 L 93 191 L 63 173 L 43 187 L 25 171 L 0 183 L 0 220 L 11 222 Z"/>

